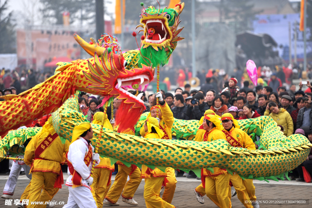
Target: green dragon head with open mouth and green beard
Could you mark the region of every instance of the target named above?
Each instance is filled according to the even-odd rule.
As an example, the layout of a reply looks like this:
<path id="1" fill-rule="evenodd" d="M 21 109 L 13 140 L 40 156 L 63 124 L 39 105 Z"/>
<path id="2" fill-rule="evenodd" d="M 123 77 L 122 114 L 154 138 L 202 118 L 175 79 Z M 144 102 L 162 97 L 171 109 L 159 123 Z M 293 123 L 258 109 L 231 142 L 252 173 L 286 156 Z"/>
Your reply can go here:
<path id="1" fill-rule="evenodd" d="M 152 63 L 153 66 L 163 66 L 168 63 L 177 42 L 184 39 L 178 36 L 184 27 L 177 29 L 183 8 L 184 3 L 180 2 L 175 8 L 155 9 L 150 6 L 141 13 L 141 24 L 137 28 L 143 28 L 139 32 L 143 31 L 145 38 L 142 41 L 139 65 Z"/>

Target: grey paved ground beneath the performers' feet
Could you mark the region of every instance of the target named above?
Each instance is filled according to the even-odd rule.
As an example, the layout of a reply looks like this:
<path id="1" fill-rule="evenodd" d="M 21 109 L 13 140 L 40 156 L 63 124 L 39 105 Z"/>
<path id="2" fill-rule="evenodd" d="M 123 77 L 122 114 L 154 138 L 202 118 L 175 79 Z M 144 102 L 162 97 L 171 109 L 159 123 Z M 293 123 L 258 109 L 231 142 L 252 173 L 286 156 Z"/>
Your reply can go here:
<path id="1" fill-rule="evenodd" d="M 66 175 L 64 175 L 64 179 L 67 178 Z M 4 188 L 4 185 L 6 183 L 7 175 L 0 175 L 0 189 Z M 112 177 L 114 179 L 115 177 Z M 174 198 L 172 201 L 172 204 L 175 205 L 178 208 L 186 208 L 186 207 L 205 207 L 205 208 L 217 208 L 216 205 L 213 204 L 212 201 L 208 199 L 208 197 L 205 196 L 205 204 L 200 204 L 196 200 L 196 196 L 194 194 L 194 189 L 197 185 L 200 184 L 200 180 L 196 179 L 187 179 L 183 177 L 177 178 L 177 188 L 174 194 Z M 15 189 L 14 193 L 14 199 L 19 199 L 22 192 L 26 188 L 27 184 L 30 180 L 26 179 L 24 175 L 21 175 L 19 177 L 17 187 Z M 254 184 L 256 186 L 256 196 L 258 200 L 270 200 L 270 199 L 276 199 L 276 200 L 282 200 L 282 199 L 293 199 L 293 200 L 299 200 L 299 199 L 308 199 L 310 200 L 310 205 L 272 205 L 272 204 L 261 204 L 261 208 L 278 208 L 278 207 L 286 207 L 286 208 L 307 208 L 312 207 L 312 185 L 307 184 L 305 182 L 295 182 L 295 181 L 280 181 L 275 182 L 271 181 L 270 183 L 262 182 L 254 180 Z M 141 182 L 138 190 L 136 191 L 134 195 L 134 199 L 139 203 L 139 206 L 136 206 L 138 208 L 143 208 L 145 206 L 144 197 L 143 197 L 143 191 L 144 191 L 144 180 Z M 58 201 L 65 201 L 67 202 L 68 197 L 68 189 L 64 185 L 62 189 L 59 190 L 59 192 L 54 196 L 53 200 Z M 237 196 L 234 196 L 232 198 L 232 204 L 234 208 L 243 208 L 244 206 L 241 204 L 241 202 L 237 199 Z M 133 207 L 131 205 L 127 205 L 124 202 L 121 201 L 121 197 L 119 198 L 120 206 L 124 208 L 130 208 Z M 56 205 L 55 207 L 62 207 L 63 205 Z M 9 208 L 9 207 L 16 207 L 14 204 L 11 206 L 5 205 L 5 199 L 0 198 L 0 208 Z M 106 207 L 105 205 L 103 207 Z"/>

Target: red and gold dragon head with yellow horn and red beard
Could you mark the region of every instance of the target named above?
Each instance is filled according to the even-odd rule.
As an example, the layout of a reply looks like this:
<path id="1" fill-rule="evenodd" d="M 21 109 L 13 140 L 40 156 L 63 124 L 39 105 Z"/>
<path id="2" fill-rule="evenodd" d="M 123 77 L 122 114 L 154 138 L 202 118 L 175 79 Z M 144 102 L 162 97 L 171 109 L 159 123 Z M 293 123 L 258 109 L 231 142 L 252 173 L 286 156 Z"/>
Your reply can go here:
<path id="1" fill-rule="evenodd" d="M 75 39 L 89 54 L 94 55 L 94 58 L 83 60 L 79 67 L 77 90 L 102 95 L 105 99 L 113 96 L 122 99 L 116 115 L 116 124 L 119 125 L 119 131 L 133 128 L 140 114 L 146 109 L 141 100 L 143 93 L 136 97 L 123 89 L 123 86 L 132 85 L 133 82 L 143 86 L 149 84 L 154 79 L 154 68 L 143 65 L 142 68 L 128 70 L 125 68 L 127 62 L 122 53 L 115 54 L 100 47 L 93 38 L 92 44 L 86 43 L 76 34 Z M 124 122 L 124 119 L 127 122 Z"/>

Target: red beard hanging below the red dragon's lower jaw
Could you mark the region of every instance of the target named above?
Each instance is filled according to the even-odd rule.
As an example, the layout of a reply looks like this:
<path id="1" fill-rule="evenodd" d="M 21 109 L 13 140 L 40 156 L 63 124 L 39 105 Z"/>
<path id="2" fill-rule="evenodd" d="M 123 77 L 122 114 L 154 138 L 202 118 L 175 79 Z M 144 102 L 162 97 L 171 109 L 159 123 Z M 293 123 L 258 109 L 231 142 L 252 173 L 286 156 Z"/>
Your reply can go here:
<path id="1" fill-rule="evenodd" d="M 131 129 L 134 131 L 134 125 L 141 116 L 141 108 L 133 108 L 133 103 L 122 102 L 117 110 L 116 125 L 118 132 Z"/>

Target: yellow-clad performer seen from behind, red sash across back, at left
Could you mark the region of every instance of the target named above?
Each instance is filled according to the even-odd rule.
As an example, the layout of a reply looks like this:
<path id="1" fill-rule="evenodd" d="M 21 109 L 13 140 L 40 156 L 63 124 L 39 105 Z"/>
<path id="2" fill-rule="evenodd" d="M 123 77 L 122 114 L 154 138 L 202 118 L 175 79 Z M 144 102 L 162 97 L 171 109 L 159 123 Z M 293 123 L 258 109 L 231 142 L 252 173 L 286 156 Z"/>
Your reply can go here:
<path id="1" fill-rule="evenodd" d="M 62 144 L 50 117 L 25 150 L 24 162 L 26 165 L 31 165 L 30 172 L 32 173 L 32 180 L 23 193 L 24 196 L 27 195 L 26 199 L 29 201 L 51 201 L 57 191 L 62 188 L 64 180 L 61 162 L 68 147 L 68 142 Z M 41 189 L 43 189 L 42 192 Z M 27 207 L 46 207 L 46 205 L 29 204 Z"/>

